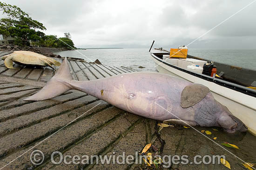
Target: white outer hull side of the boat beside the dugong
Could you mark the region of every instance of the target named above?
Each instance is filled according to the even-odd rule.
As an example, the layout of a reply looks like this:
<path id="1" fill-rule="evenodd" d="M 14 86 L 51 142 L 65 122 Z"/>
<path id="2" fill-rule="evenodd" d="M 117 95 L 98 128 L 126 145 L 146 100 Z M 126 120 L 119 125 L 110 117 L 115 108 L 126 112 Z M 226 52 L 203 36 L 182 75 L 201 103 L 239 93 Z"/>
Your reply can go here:
<path id="1" fill-rule="evenodd" d="M 151 53 L 155 68 L 162 73 L 170 74 L 175 77 L 186 79 L 192 83 L 198 83 L 207 86 L 215 99 L 222 105 L 228 107 L 229 111 L 243 121 L 248 130 L 256 136 L 256 98 L 242 92 L 237 92 L 223 85 L 218 85 L 214 81 L 208 81 L 207 78 L 200 78 L 200 75 L 194 76 L 188 72 L 170 66 L 164 60 L 159 59 Z M 202 75 L 202 77 L 205 77 Z M 210 79 L 211 77 L 209 77 Z M 212 78 L 211 78 L 212 79 Z"/>

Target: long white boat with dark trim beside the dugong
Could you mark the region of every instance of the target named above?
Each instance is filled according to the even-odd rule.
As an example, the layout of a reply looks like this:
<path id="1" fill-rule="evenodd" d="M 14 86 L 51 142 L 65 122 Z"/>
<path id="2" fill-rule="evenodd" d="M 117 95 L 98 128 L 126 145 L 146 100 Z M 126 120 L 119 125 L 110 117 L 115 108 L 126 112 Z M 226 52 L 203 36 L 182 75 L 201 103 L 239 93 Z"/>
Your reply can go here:
<path id="1" fill-rule="evenodd" d="M 187 68 L 187 63 L 203 65 L 209 61 L 189 55 L 187 59 L 169 59 L 165 56 L 169 56 L 169 52 L 162 50 L 154 50 L 150 54 L 159 72 L 207 86 L 215 99 L 227 106 L 256 136 L 256 71 L 215 62 L 217 73 L 224 72 L 225 75 L 217 78 L 215 75 L 211 77 Z"/>

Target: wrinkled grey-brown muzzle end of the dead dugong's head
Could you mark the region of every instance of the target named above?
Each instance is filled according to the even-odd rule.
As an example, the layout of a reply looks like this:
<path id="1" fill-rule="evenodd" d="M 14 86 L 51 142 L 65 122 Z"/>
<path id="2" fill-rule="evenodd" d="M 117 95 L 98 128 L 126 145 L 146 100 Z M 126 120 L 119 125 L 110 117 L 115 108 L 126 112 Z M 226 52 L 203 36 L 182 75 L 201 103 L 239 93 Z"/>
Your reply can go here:
<path id="1" fill-rule="evenodd" d="M 220 115 L 217 122 L 224 129 L 224 131 L 229 133 L 244 132 L 248 129 L 239 118 L 236 118 L 225 111 Z"/>

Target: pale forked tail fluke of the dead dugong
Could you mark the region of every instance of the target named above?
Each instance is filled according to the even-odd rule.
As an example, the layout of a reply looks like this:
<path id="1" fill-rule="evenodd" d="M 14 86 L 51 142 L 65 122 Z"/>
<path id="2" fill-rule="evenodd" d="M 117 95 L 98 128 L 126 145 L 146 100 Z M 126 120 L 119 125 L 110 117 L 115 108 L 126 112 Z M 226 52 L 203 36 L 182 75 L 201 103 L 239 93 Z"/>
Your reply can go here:
<path id="1" fill-rule="evenodd" d="M 60 96 L 62 93 L 72 89 L 68 84 L 71 80 L 73 80 L 73 78 L 70 73 L 67 58 L 65 58 L 54 77 L 51 78 L 39 92 L 24 100 L 40 101 Z"/>

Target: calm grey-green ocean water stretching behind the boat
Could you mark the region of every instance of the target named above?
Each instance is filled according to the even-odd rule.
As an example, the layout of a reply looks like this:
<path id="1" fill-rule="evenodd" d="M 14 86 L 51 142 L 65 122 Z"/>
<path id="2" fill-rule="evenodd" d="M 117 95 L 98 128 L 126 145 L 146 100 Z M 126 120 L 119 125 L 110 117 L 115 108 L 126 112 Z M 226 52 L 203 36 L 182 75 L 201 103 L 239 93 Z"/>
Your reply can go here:
<path id="1" fill-rule="evenodd" d="M 125 66 L 136 71 L 156 71 L 148 48 L 87 49 L 56 54 L 85 59 L 87 62 L 99 59 L 105 65 Z M 256 49 L 189 49 L 189 55 L 256 70 Z M 145 68 L 138 68 L 139 66 Z"/>

